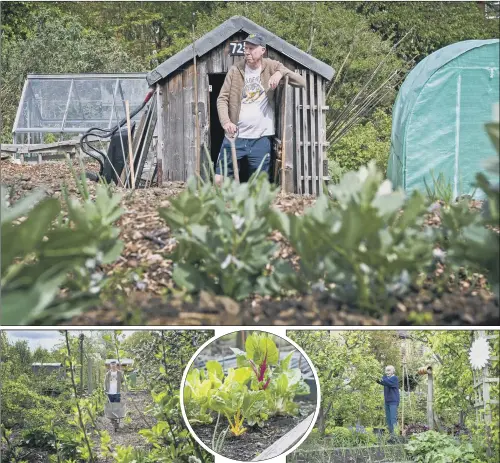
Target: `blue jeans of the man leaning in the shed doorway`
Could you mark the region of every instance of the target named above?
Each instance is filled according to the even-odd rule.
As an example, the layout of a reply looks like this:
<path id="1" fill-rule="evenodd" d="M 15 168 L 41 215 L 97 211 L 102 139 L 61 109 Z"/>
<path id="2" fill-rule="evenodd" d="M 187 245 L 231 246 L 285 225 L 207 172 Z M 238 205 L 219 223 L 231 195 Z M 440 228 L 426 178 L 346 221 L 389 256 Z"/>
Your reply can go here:
<path id="1" fill-rule="evenodd" d="M 261 137 L 255 139 L 237 138 L 235 148 L 238 165 L 243 158 L 246 157 L 248 159 L 249 176 L 257 171 L 264 158 L 265 160 L 262 164 L 262 172 L 266 172 L 267 175 L 269 175 L 269 166 L 271 164 L 271 137 Z M 227 176 L 233 177 L 234 169 L 231 144 L 229 143 L 227 137 L 224 137 L 215 166 L 215 173 L 218 175 L 224 174 L 224 156 L 226 156 L 227 159 Z"/>

